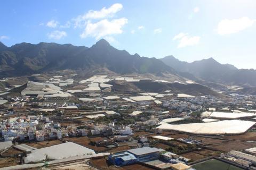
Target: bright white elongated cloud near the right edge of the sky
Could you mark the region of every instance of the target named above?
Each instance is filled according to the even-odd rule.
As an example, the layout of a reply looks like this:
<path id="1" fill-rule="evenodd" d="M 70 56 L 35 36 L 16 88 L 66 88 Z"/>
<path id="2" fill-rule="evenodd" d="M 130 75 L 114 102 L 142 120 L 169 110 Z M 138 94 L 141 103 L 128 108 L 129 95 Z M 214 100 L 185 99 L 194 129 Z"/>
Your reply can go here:
<path id="1" fill-rule="evenodd" d="M 218 23 L 217 32 L 219 35 L 228 35 L 242 31 L 252 26 L 256 20 L 249 19 L 248 17 L 242 17 L 239 19 L 223 19 Z"/>

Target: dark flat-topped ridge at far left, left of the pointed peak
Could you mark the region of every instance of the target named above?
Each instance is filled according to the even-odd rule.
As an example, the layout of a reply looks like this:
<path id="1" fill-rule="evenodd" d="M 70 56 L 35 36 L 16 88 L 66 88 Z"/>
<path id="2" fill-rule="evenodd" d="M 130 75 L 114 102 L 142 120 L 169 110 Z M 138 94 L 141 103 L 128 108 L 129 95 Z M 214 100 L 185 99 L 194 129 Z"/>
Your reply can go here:
<path id="1" fill-rule="evenodd" d="M 87 47 L 70 44 L 29 43 L 16 44 L 0 52 L 0 73 L 2 75 L 26 75 L 44 68 L 58 68 L 78 51 Z"/>

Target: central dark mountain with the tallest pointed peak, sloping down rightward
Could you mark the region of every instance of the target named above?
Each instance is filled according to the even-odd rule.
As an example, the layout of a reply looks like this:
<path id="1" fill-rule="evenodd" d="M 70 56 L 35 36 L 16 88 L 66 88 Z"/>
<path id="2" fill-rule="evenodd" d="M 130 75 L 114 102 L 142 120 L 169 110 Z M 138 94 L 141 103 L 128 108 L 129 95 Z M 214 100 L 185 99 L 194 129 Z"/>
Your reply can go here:
<path id="1" fill-rule="evenodd" d="M 117 50 L 110 46 L 104 39 L 87 49 L 86 53 L 78 54 L 77 60 L 79 63 L 73 63 L 76 67 L 83 67 L 83 63 L 92 63 L 121 74 L 175 72 L 156 58 L 140 57 L 138 54 L 130 55 L 125 50 Z"/>

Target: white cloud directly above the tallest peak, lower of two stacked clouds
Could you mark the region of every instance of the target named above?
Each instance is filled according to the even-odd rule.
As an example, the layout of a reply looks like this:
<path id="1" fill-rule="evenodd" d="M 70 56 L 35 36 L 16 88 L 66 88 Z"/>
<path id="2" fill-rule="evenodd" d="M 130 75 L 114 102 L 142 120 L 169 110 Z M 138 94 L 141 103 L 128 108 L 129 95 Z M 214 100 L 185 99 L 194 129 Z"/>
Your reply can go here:
<path id="1" fill-rule="evenodd" d="M 122 27 L 127 23 L 126 18 L 115 19 L 108 21 L 103 19 L 96 23 L 91 23 L 88 21 L 83 33 L 80 35 L 81 38 L 94 37 L 96 39 L 123 33 Z"/>

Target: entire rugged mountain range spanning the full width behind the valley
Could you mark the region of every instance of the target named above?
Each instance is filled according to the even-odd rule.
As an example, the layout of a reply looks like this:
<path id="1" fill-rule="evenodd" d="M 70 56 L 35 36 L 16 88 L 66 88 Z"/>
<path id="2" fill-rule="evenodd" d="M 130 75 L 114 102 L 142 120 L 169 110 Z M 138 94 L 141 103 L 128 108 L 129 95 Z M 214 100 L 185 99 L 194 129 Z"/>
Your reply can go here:
<path id="1" fill-rule="evenodd" d="M 117 74 L 172 75 L 176 79 L 256 87 L 256 71 L 253 69 L 237 69 L 213 58 L 188 63 L 173 56 L 157 59 L 131 55 L 126 50 L 114 48 L 105 39 L 90 48 L 56 43 L 21 43 L 7 47 L 0 42 L 2 78 L 66 69 L 86 72 L 99 68 Z"/>

